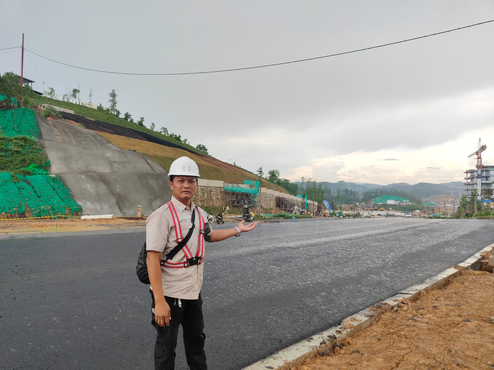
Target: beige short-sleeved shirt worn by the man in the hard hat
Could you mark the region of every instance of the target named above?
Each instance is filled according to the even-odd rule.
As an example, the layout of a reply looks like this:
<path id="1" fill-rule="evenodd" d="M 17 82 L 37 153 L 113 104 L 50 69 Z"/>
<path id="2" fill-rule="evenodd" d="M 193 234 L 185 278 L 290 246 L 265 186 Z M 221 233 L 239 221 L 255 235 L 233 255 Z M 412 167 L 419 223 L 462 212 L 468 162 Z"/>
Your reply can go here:
<path id="1" fill-rule="evenodd" d="M 192 226 L 191 217 L 192 210 L 195 208 L 194 202 L 191 202 L 192 210 L 183 203 L 179 202 L 173 196 L 171 197 L 171 202 L 175 207 L 178 219 L 180 221 L 182 236 L 185 238 L 190 227 Z M 199 207 L 198 209 L 203 218 L 203 222 L 207 222 L 206 212 Z M 154 211 L 146 220 L 146 249 L 148 251 L 162 252 L 163 256 L 161 259 L 165 259 L 165 254 L 169 253 L 178 244 L 175 234 L 175 226 L 171 215 L 172 214 L 168 205 L 165 204 Z M 173 213 L 173 215 L 175 214 Z M 176 223 L 178 225 L 178 222 Z M 194 224 L 196 227 L 187 242 L 188 250 L 184 251 L 184 246 L 182 250 L 179 251 L 173 259 L 169 259 L 168 262 L 185 262 L 187 260 L 186 253 L 187 255 L 189 254 L 188 251 L 190 251 L 192 257 L 196 257 L 198 255 L 199 213 L 197 211 Z M 178 233 L 178 236 L 180 237 L 180 232 Z M 205 244 L 206 243 L 204 243 L 202 248 L 205 248 Z M 186 268 L 161 266 L 163 293 L 165 296 L 181 299 L 198 299 L 199 292 L 201 292 L 201 287 L 203 285 L 203 268 L 204 262 Z"/>

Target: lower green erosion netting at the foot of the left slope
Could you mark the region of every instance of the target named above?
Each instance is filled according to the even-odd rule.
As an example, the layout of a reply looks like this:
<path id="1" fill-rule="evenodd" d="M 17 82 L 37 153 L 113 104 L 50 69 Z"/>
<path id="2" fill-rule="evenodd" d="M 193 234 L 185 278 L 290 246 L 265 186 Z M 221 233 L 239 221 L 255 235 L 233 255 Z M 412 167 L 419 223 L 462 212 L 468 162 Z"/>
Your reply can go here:
<path id="1" fill-rule="evenodd" d="M 0 218 L 77 216 L 81 207 L 58 175 L 0 172 Z"/>

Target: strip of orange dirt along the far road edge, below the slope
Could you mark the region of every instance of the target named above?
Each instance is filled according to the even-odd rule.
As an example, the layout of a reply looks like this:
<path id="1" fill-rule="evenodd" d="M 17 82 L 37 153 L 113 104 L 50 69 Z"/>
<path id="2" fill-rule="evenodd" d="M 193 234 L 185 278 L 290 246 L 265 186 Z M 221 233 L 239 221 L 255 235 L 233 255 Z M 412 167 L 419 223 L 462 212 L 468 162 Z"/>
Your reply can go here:
<path id="1" fill-rule="evenodd" d="M 109 228 L 145 226 L 146 219 L 141 220 L 12 220 L 0 221 L 0 235 L 37 232 L 66 232 L 83 230 L 101 230 Z"/>

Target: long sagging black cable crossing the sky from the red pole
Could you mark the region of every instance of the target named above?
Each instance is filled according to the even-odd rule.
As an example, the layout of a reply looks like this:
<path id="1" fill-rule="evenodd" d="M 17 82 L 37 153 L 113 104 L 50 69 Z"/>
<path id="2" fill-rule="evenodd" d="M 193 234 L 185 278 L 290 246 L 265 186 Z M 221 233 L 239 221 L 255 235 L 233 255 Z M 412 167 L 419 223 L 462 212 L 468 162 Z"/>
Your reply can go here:
<path id="1" fill-rule="evenodd" d="M 58 61 L 56 61 L 56 60 L 53 60 L 53 59 L 50 59 L 50 58 L 47 58 L 47 57 L 43 57 L 42 55 L 37 54 L 37 53 L 35 53 L 34 51 L 28 50 L 28 49 L 26 49 L 26 48 L 25 48 L 25 49 L 26 49 L 26 50 L 28 50 L 29 52 L 31 52 L 31 53 L 33 53 L 33 54 L 35 54 L 35 55 L 38 55 L 38 56 L 39 56 L 39 57 L 41 57 L 41 58 L 47 59 L 47 60 L 49 60 L 49 61 L 51 61 L 51 62 L 55 62 L 55 63 L 58 63 L 58 64 L 63 64 L 64 66 L 73 67 L 73 68 L 78 68 L 78 69 L 81 69 L 81 70 L 93 71 L 93 72 L 102 72 L 102 73 L 110 73 L 110 74 L 144 75 L 144 76 L 169 76 L 169 75 L 179 75 L 179 74 L 206 74 L 206 73 L 218 73 L 218 72 L 231 72 L 231 71 L 251 70 L 251 69 L 254 69 L 254 68 L 264 68 L 264 67 L 281 66 L 281 65 L 283 65 L 283 64 L 298 63 L 298 62 L 306 62 L 306 61 L 309 61 L 309 60 L 322 59 L 322 58 L 329 58 L 329 57 L 334 57 L 334 56 L 337 56 L 337 55 L 343 55 L 343 54 L 356 53 L 356 52 L 358 52 L 358 51 L 364 51 L 364 50 L 376 49 L 376 48 L 378 48 L 378 47 L 389 46 L 389 45 L 395 45 L 395 44 L 399 44 L 399 43 L 402 43 L 402 42 L 407 42 L 407 41 L 412 41 L 412 40 L 418 40 L 419 38 L 425 38 L 425 37 L 431 37 L 431 36 L 436 36 L 436 35 L 446 34 L 446 33 L 448 33 L 448 32 L 453 32 L 453 31 L 463 30 L 463 29 L 465 29 L 465 28 L 474 27 L 474 26 L 479 26 L 479 25 L 481 25 L 481 24 L 486 24 L 486 23 L 490 23 L 490 22 L 494 22 L 494 19 L 493 19 L 493 20 L 490 20 L 490 21 L 486 21 L 486 22 L 475 23 L 475 24 L 472 24 L 472 25 L 469 25 L 469 26 L 464 26 L 464 27 L 454 28 L 453 30 L 448 30 L 448 31 L 437 32 L 437 33 L 435 33 L 435 34 L 430 34 L 430 35 L 425 35 L 425 36 L 419 36 L 419 37 L 408 38 L 408 39 L 406 39 L 406 40 L 401 40 L 401 41 L 390 42 L 390 43 L 387 43 L 387 44 L 382 44 L 382 45 L 377 45 L 377 46 L 371 46 L 371 47 L 366 47 L 366 48 L 363 48 L 363 49 L 357 49 L 357 50 L 352 50 L 352 51 L 345 51 L 345 52 L 342 52 L 342 53 L 336 53 L 336 54 L 325 55 L 325 56 L 322 56 L 322 57 L 307 58 L 307 59 L 299 59 L 299 60 L 294 60 L 294 61 L 291 61 L 291 62 L 283 62 L 283 63 L 265 64 L 265 65 L 262 65 L 262 66 L 255 66 L 255 67 L 232 68 L 232 69 L 228 69 L 228 70 L 204 71 L 204 72 L 184 72 L 184 73 L 124 73 L 124 72 L 111 72 L 111 71 L 93 70 L 93 69 L 91 69 L 91 68 L 83 68 L 83 67 L 73 66 L 73 65 L 71 65 L 71 64 L 67 64 L 67 63 L 58 62 Z"/>

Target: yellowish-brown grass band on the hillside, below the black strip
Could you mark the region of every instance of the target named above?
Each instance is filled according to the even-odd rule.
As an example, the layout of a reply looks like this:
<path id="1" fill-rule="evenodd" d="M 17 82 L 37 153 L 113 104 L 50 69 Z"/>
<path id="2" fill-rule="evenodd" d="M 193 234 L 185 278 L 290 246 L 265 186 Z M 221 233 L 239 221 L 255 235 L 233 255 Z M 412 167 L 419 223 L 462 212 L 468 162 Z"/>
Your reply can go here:
<path id="1" fill-rule="evenodd" d="M 135 150 L 141 154 L 148 156 L 163 168 L 168 170 L 171 162 L 181 156 L 188 156 L 194 160 L 199 166 L 199 173 L 202 179 L 207 180 L 219 180 L 225 183 L 243 184 L 244 180 L 257 180 L 256 175 L 240 169 L 239 167 L 232 166 L 231 164 L 222 162 L 213 157 L 200 157 L 196 156 L 188 151 L 165 147 L 160 144 L 150 143 L 144 140 L 126 138 L 124 136 L 107 134 L 104 132 L 97 132 L 103 138 L 108 140 L 113 145 L 124 150 Z M 282 187 L 271 184 L 263 179 L 261 186 L 268 189 L 275 187 L 275 190 L 286 193 L 287 191 Z"/>

